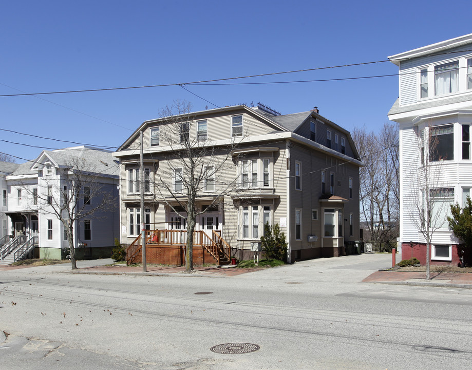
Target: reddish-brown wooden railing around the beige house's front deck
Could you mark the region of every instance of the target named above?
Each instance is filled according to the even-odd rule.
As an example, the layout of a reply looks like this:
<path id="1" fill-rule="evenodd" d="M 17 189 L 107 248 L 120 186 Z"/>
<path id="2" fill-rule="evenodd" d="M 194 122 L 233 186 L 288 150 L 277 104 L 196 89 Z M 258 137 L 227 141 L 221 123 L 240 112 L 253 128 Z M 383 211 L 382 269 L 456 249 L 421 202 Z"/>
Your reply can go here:
<path id="1" fill-rule="evenodd" d="M 211 236 L 203 230 L 194 231 L 193 245 L 205 248 L 220 264 L 220 251 L 230 260 L 230 246 L 221 237 L 221 232 L 213 231 Z M 145 230 L 146 245 L 182 246 L 185 249 L 187 243 L 186 230 Z M 126 264 L 141 250 L 141 235 L 126 249 Z"/>

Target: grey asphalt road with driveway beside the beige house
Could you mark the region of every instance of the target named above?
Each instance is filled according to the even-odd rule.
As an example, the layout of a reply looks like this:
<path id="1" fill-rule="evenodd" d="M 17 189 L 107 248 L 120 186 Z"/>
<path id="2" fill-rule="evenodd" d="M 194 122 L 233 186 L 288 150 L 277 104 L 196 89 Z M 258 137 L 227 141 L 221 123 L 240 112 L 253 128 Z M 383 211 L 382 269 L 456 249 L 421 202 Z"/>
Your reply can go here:
<path id="1" fill-rule="evenodd" d="M 469 367 L 472 291 L 361 283 L 390 264 L 365 254 L 231 278 L 0 271 L 0 368 Z M 226 343 L 260 348 L 210 350 Z"/>

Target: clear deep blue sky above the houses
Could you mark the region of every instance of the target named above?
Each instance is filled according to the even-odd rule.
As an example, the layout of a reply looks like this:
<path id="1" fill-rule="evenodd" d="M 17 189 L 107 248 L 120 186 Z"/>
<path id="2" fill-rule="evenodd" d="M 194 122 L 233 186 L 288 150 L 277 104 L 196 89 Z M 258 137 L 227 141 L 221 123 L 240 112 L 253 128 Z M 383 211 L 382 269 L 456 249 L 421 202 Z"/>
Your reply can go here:
<path id="1" fill-rule="evenodd" d="M 471 33 L 469 7 L 469 2 L 454 3 L 456 10 L 438 23 L 438 16 L 448 12 L 444 2 L 435 0 L 3 2 L 0 95 L 188 83 L 384 61 Z M 230 82 L 397 72 L 397 66 L 383 62 Z M 289 114 L 318 106 L 321 115 L 347 130 L 365 125 L 375 131 L 387 122 L 398 97 L 398 78 L 185 88 L 212 104 L 180 86 L 0 97 L 0 128 L 114 147 L 180 99 L 194 110 L 262 102 Z M 0 140 L 72 146 L 5 131 Z M 0 141 L 0 152 L 25 159 L 41 150 Z"/>

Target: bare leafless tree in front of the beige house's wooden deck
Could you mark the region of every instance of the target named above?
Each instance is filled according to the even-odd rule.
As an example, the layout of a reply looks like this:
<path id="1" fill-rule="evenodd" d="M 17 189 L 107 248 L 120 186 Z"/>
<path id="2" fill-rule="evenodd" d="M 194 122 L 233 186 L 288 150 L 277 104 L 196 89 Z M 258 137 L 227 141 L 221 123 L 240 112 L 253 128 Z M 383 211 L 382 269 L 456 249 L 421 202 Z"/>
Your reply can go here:
<path id="1" fill-rule="evenodd" d="M 165 122 L 160 127 L 159 145 L 167 146 L 165 164 L 160 164 L 156 174 L 156 190 L 160 202 L 179 217 L 186 219 L 185 272 L 193 271 L 193 232 L 197 216 L 218 206 L 221 198 L 236 187 L 235 165 L 231 151 L 242 140 L 219 143 L 216 146 L 206 136 L 206 127 L 199 130 L 191 114 L 192 105 L 175 101 L 161 111 Z M 196 133 L 196 135 L 194 134 Z M 211 196 L 210 205 L 204 210 L 197 207 L 197 197 L 206 191 Z"/>

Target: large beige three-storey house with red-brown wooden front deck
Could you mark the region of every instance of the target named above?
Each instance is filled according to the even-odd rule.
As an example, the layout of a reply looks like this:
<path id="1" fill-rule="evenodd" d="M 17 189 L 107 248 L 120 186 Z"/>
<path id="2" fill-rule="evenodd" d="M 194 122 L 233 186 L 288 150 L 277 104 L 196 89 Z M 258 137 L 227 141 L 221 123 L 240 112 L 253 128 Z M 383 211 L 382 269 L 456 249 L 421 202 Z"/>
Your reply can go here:
<path id="1" fill-rule="evenodd" d="M 121 242 L 139 244 L 144 220 L 147 262 L 183 263 L 184 239 L 172 233 L 186 229 L 181 205 L 190 175 L 188 158 L 179 159 L 180 141 L 181 149 L 186 143 L 203 153 L 199 173 L 192 175 L 205 174 L 196 193 L 196 210 L 204 212 L 196 219 L 194 258 L 196 245 L 206 253 L 204 238 L 229 246 L 226 257 L 253 258 L 266 223 L 285 233 L 289 262 L 337 256 L 339 247 L 359 238 L 363 164 L 349 132 L 317 108 L 280 115 L 262 104 L 235 105 L 145 121 L 113 154 L 121 168 Z"/>

